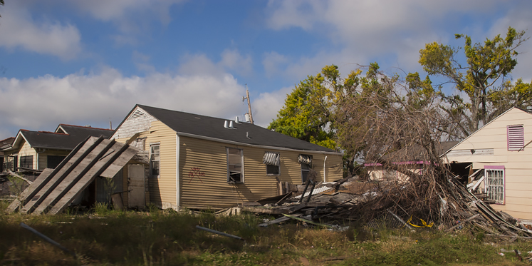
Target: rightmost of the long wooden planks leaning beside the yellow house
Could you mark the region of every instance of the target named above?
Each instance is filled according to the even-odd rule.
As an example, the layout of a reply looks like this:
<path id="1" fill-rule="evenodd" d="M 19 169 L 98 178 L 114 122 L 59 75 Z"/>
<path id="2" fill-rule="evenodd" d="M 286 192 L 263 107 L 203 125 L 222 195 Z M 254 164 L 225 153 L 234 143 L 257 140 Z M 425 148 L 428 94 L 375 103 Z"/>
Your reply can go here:
<path id="1" fill-rule="evenodd" d="M 115 160 L 118 158 L 132 158 L 138 151 L 137 148 L 118 142 L 113 145 L 112 149 L 117 149 L 117 152 L 111 157 L 98 160 L 93 167 L 91 167 L 90 170 L 88 170 L 88 172 L 85 173 L 85 175 L 83 175 L 83 177 L 80 178 L 80 180 L 73 185 L 73 187 L 70 188 L 55 205 L 53 205 L 48 214 L 61 213 L 65 208 L 68 207 L 75 197 L 80 195 L 80 193 L 87 188 L 97 176 L 100 176 L 101 173 L 103 173 L 103 171 L 105 171 L 105 169 L 107 169 L 111 163 L 115 162 Z M 124 165 L 127 163 L 127 161 L 129 161 L 129 159 L 122 160 L 122 162 L 125 162 Z M 124 165 L 122 165 L 122 167 Z"/>

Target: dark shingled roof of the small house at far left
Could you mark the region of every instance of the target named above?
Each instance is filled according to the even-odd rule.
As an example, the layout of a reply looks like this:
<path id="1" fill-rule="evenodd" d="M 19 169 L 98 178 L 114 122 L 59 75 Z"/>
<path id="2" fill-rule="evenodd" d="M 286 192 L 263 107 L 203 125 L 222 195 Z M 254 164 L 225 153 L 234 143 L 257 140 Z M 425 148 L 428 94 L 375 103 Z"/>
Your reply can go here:
<path id="1" fill-rule="evenodd" d="M 31 148 L 47 148 L 54 150 L 72 150 L 76 145 L 89 136 L 103 136 L 104 138 L 109 138 L 110 135 L 113 134 L 113 131 L 103 128 L 89 128 L 64 124 L 59 125 L 59 127 L 64 128 L 68 134 L 24 130 L 21 130 L 20 133 L 31 145 Z"/>

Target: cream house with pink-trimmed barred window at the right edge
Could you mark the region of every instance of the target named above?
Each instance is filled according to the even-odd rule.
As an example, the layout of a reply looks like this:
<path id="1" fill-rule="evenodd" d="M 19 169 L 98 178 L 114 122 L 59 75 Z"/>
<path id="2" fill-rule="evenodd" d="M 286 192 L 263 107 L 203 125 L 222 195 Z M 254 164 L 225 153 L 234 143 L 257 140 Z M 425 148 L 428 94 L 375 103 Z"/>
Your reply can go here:
<path id="1" fill-rule="evenodd" d="M 530 143 L 532 113 L 513 107 L 452 147 L 446 157 L 449 163 L 471 165 L 469 175 L 483 175 L 474 187 L 487 193 L 495 210 L 532 219 Z"/>

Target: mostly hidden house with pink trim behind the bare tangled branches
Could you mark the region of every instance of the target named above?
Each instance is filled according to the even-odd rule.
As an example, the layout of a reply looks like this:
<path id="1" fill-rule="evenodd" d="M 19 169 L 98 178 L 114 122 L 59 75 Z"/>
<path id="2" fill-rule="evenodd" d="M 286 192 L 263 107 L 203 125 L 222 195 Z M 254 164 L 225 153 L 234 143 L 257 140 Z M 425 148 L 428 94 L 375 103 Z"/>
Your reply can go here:
<path id="1" fill-rule="evenodd" d="M 444 141 L 439 143 L 437 147 L 439 155 L 444 155 L 445 151 L 449 150 L 452 146 L 456 145 L 458 141 Z M 396 150 L 393 153 L 382 156 L 383 160 L 390 161 L 393 165 L 410 170 L 414 173 L 422 173 L 424 165 L 427 162 L 427 150 L 422 148 L 421 145 L 412 145 L 400 150 Z M 393 170 L 385 168 L 380 163 L 365 163 L 364 164 L 368 175 L 371 180 L 400 180 L 405 181 L 408 176 Z"/>

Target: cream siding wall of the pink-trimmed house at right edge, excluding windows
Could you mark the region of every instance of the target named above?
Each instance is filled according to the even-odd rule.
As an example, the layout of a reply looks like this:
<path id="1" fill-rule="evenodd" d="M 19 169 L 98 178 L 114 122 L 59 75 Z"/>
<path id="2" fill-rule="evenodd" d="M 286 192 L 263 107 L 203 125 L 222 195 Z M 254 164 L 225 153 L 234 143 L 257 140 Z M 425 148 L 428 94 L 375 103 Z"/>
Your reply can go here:
<path id="1" fill-rule="evenodd" d="M 513 108 L 466 138 L 447 153 L 449 161 L 471 162 L 474 169 L 486 165 L 504 166 L 504 205 L 492 204 L 516 218 L 532 219 L 532 145 L 508 150 L 507 126 L 523 125 L 525 145 L 532 140 L 532 114 Z M 471 150 L 493 149 L 493 155 Z M 467 153 L 469 151 L 469 153 Z"/>

